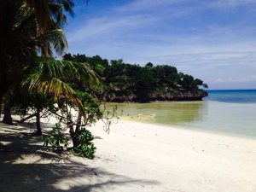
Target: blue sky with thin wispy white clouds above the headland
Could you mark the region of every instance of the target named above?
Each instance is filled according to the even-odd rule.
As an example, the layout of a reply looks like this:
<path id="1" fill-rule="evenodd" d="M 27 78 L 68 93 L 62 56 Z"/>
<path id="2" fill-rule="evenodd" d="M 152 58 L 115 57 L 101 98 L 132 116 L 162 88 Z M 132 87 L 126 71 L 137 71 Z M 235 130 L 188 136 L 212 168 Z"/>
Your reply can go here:
<path id="1" fill-rule="evenodd" d="M 72 54 L 168 64 L 210 89 L 256 89 L 256 0 L 80 1 Z"/>

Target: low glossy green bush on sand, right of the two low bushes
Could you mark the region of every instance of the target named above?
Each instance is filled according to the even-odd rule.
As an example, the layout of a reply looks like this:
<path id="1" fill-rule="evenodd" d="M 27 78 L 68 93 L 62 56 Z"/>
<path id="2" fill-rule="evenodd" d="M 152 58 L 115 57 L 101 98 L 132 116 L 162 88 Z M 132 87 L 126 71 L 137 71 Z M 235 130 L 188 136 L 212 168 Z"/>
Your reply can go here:
<path id="1" fill-rule="evenodd" d="M 96 152 L 96 147 L 92 143 L 94 137 L 91 135 L 90 131 L 81 129 L 78 131 L 77 142 L 79 143 L 74 147 L 73 153 L 88 159 L 93 159 Z"/>

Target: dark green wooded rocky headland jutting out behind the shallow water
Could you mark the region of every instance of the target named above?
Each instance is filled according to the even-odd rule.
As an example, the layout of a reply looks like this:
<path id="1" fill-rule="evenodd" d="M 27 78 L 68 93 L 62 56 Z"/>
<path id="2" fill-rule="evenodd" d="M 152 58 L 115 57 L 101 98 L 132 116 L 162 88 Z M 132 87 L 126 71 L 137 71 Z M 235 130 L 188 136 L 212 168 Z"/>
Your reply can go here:
<path id="1" fill-rule="evenodd" d="M 99 55 L 63 56 L 66 61 L 87 62 L 102 79 L 108 102 L 150 102 L 175 100 L 201 100 L 207 88 L 201 79 L 178 73 L 176 67 L 148 63 L 144 67 L 126 64 L 122 60 L 102 59 Z"/>

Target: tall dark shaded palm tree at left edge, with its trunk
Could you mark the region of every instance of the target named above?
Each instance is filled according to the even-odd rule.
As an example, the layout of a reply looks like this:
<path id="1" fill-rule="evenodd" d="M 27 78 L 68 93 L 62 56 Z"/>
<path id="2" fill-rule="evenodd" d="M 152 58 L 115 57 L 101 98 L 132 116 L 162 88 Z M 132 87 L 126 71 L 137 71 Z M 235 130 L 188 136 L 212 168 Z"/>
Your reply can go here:
<path id="1" fill-rule="evenodd" d="M 19 86 L 27 71 L 36 66 L 40 55 L 51 56 L 53 50 L 61 55 L 67 40 L 59 23 L 49 21 L 48 31 L 38 32 L 35 11 L 22 0 L 0 2 L 0 105 L 3 96 Z M 10 105 L 5 103 L 3 122 L 11 124 Z"/>

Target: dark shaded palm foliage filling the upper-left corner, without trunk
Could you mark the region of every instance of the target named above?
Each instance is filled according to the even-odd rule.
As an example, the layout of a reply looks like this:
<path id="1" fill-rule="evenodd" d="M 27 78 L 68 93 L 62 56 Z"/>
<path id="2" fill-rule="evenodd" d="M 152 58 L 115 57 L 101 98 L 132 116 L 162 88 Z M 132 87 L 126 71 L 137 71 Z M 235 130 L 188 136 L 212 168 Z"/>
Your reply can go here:
<path id="1" fill-rule="evenodd" d="M 15 95 L 20 91 L 21 81 L 38 69 L 39 56 L 46 60 L 53 53 L 61 55 L 67 48 L 61 27 L 67 21 L 65 14 L 73 13 L 72 8 L 72 0 L 0 1 L 0 101 L 9 91 Z"/>

